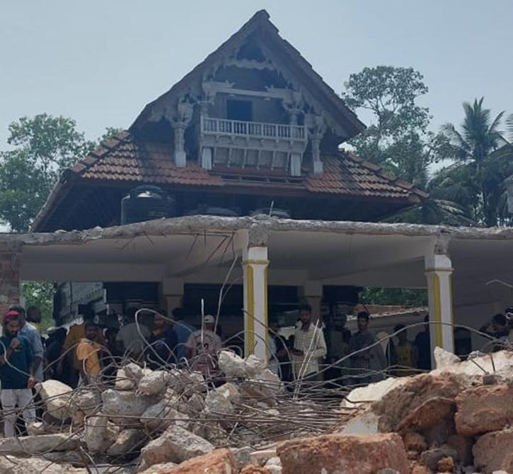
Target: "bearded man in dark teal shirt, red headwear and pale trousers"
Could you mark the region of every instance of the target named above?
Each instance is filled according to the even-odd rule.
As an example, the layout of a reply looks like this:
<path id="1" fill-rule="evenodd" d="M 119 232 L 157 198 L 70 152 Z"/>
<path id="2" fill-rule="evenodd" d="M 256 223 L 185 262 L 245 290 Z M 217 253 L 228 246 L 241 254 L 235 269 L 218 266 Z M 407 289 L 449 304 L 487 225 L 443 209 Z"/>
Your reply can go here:
<path id="1" fill-rule="evenodd" d="M 25 425 L 35 421 L 32 388 L 34 358 L 30 342 L 19 332 L 20 315 L 9 310 L 4 315 L 3 336 L 0 337 L 0 400 L 4 417 L 5 436 L 14 436 L 16 407 L 21 410 Z"/>

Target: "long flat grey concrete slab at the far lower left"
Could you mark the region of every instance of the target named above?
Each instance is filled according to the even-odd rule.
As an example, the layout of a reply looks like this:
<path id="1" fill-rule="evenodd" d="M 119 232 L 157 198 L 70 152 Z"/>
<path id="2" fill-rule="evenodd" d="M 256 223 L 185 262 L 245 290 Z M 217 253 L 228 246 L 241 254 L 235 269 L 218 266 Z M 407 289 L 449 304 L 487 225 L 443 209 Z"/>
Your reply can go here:
<path id="1" fill-rule="evenodd" d="M 68 433 L 0 438 L 0 454 L 33 455 L 47 451 L 69 451 L 78 445 L 79 439 Z"/>

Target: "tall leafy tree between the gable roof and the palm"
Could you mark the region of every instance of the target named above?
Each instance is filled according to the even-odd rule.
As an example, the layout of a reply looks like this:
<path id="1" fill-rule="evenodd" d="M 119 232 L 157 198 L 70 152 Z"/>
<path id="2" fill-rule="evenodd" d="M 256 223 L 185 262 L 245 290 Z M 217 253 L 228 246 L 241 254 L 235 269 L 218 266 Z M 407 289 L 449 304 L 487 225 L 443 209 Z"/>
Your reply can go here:
<path id="1" fill-rule="evenodd" d="M 367 130 L 350 141 L 357 154 L 421 188 L 429 165 L 446 147 L 444 135 L 428 130 L 429 110 L 417 104 L 428 91 L 423 79 L 411 67 L 366 67 L 350 75 L 342 93 L 352 110 L 374 115 Z"/>

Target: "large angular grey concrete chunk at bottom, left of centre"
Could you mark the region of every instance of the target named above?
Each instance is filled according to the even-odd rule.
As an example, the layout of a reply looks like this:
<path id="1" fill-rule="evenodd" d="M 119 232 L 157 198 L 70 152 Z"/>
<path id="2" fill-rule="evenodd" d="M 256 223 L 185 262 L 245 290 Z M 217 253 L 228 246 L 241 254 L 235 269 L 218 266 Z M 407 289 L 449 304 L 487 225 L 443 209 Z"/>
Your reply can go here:
<path id="1" fill-rule="evenodd" d="M 173 425 L 142 448 L 141 458 L 144 465 L 149 467 L 169 461 L 181 463 L 211 451 L 214 451 L 214 446 L 209 441 Z"/>

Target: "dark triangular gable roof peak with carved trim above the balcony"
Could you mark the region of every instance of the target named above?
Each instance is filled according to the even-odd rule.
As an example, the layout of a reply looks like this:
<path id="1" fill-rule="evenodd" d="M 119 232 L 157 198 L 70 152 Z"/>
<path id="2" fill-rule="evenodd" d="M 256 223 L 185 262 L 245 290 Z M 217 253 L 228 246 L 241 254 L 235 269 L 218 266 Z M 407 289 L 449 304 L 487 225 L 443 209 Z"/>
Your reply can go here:
<path id="1" fill-rule="evenodd" d="M 248 48 L 252 47 L 253 52 L 248 54 Z M 248 59 L 251 54 L 253 57 L 261 57 L 257 57 L 256 60 Z M 162 118 L 170 122 L 183 120 L 182 117 L 178 117 L 178 103 L 208 100 L 208 91 L 205 89 L 209 89 L 209 84 L 213 83 L 219 87 L 221 83 L 216 80 L 217 72 L 223 67 L 231 66 L 268 69 L 279 74 L 287 84 L 284 89 L 288 89 L 292 94 L 292 100 L 289 102 L 294 103 L 294 98 L 296 101 L 301 98 L 311 108 L 312 115 L 323 117 L 323 122 L 333 130 L 334 135 L 340 137 L 340 141 L 357 135 L 365 128 L 355 113 L 345 106 L 335 91 L 313 70 L 311 64 L 279 36 L 277 28 L 269 20 L 267 11 L 261 10 L 169 91 L 149 103 L 130 130 L 137 134 L 146 123 L 158 122 Z M 225 86 L 231 87 L 234 84 L 226 83 Z M 272 90 L 269 93 L 284 95 L 287 93 L 284 89 Z"/>

